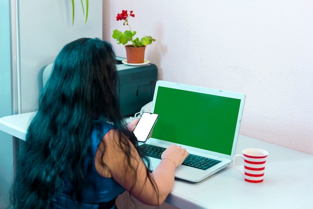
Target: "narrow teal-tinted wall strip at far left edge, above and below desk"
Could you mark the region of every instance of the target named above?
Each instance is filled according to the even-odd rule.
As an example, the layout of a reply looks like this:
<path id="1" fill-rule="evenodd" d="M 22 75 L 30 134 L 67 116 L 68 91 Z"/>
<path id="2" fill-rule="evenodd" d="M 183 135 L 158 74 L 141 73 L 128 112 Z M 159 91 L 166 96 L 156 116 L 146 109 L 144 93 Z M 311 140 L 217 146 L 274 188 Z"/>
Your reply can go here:
<path id="1" fill-rule="evenodd" d="M 0 117 L 10 115 L 11 109 L 11 72 L 9 1 L 0 1 Z M 12 136 L 0 131 L 0 208 L 8 208 L 8 192 L 13 175 Z"/>

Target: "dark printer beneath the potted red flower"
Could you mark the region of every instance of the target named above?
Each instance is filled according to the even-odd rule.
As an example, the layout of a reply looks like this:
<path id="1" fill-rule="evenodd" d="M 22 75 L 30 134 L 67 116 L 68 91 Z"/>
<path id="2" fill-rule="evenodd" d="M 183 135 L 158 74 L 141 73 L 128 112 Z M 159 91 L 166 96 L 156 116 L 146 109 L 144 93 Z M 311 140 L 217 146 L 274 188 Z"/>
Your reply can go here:
<path id="1" fill-rule="evenodd" d="M 157 81 L 157 67 L 150 63 L 126 65 L 122 63 L 123 60 L 125 58 L 116 57 L 117 94 L 122 116 L 130 116 L 152 101 Z"/>

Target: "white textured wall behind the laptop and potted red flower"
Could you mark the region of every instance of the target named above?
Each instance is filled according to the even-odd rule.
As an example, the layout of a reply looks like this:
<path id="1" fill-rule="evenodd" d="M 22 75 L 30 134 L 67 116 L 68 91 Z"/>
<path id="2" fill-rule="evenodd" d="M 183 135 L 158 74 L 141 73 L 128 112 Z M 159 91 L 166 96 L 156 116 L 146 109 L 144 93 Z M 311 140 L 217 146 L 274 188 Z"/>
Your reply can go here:
<path id="1" fill-rule="evenodd" d="M 121 10 L 156 39 L 159 79 L 242 92 L 240 134 L 313 154 L 313 1 L 103 1 L 103 38 L 125 57 Z"/>

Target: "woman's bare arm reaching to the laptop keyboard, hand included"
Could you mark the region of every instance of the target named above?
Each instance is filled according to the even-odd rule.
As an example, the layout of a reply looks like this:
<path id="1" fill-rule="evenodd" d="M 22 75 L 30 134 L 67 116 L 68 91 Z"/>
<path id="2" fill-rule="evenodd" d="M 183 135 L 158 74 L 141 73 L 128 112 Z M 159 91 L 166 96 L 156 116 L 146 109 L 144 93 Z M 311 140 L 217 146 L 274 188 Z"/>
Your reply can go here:
<path id="1" fill-rule="evenodd" d="M 121 136 L 125 137 L 125 136 Z M 96 152 L 95 166 L 103 177 L 113 177 L 131 195 L 144 204 L 161 204 L 169 194 L 174 185 L 174 170 L 180 165 L 188 155 L 185 149 L 175 145 L 168 147 L 163 153 L 161 162 L 152 173 L 147 172 L 147 168 L 141 160 L 134 146 L 129 142 L 127 154 L 125 145 L 119 144 L 119 132 L 111 129 L 102 139 L 105 143 L 100 143 Z M 128 139 L 126 139 L 128 140 Z M 102 155 L 104 151 L 104 154 Z M 129 166 L 127 162 L 129 156 Z M 166 159 L 165 159 L 166 158 Z M 105 163 L 103 166 L 101 161 Z M 153 188 L 153 182 L 147 175 L 154 180 L 158 189 L 158 196 Z M 134 182 L 136 182 L 134 184 Z"/>

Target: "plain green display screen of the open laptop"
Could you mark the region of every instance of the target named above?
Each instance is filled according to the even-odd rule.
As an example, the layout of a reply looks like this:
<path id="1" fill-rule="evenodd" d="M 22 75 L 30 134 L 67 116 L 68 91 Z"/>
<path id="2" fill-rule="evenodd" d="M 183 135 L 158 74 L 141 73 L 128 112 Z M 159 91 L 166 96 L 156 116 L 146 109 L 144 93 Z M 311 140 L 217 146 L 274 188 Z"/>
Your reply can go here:
<path id="1" fill-rule="evenodd" d="M 158 87 L 152 138 L 230 155 L 240 100 Z"/>

